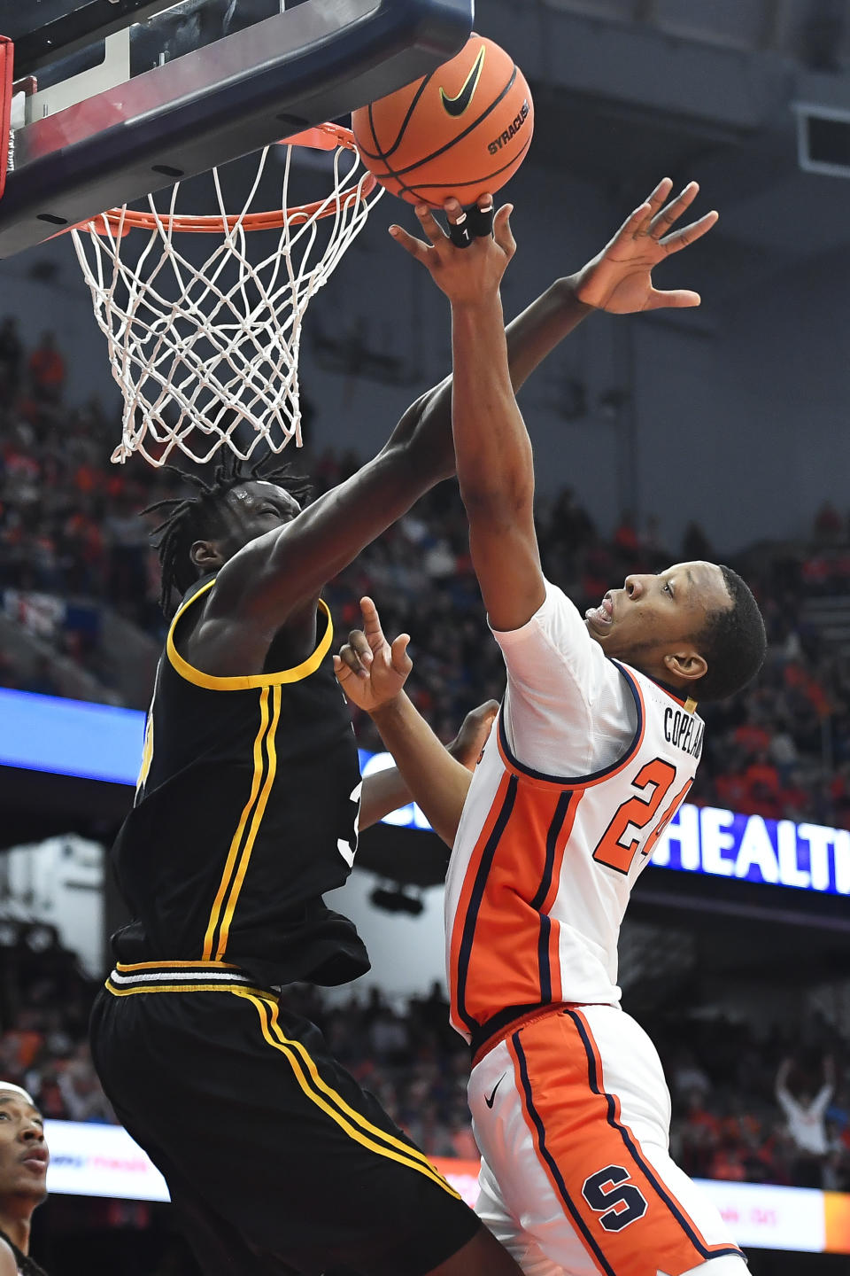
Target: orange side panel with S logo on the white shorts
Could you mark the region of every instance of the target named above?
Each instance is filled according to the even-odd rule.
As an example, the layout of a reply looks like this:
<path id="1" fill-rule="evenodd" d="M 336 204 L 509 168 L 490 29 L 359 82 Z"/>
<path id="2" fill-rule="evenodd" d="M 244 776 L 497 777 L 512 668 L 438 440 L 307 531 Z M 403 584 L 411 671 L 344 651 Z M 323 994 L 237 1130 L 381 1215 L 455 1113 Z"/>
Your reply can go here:
<path id="1" fill-rule="evenodd" d="M 681 1276 L 709 1245 L 659 1179 L 604 1090 L 601 1060 L 584 1014 L 567 1008 L 507 1039 L 522 1114 L 552 1188 L 604 1276 Z"/>

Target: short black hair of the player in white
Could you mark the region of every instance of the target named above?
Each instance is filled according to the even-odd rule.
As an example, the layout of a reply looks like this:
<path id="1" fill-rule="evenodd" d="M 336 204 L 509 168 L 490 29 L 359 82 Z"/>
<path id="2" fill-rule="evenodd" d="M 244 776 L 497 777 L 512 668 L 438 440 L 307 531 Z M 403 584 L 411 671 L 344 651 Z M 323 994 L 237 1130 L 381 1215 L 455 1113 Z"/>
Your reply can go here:
<path id="1" fill-rule="evenodd" d="M 756 676 L 767 651 L 765 621 L 752 590 L 730 567 L 720 564 L 720 572 L 731 606 L 710 612 L 695 639 L 709 666 L 688 688 L 697 701 L 724 701 L 734 695 Z"/>

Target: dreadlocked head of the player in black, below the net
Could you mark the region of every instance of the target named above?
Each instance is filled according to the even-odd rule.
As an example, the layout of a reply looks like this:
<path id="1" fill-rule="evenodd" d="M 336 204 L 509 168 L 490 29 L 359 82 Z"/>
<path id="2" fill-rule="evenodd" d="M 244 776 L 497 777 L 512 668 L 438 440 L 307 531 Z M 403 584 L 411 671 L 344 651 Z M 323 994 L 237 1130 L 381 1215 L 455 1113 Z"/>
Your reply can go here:
<path id="1" fill-rule="evenodd" d="M 263 463 L 245 468 L 226 462 L 205 482 L 198 475 L 180 473 L 195 489 L 192 496 L 175 496 L 149 505 L 144 514 L 167 510 L 154 532 L 159 551 L 162 588 L 159 604 L 166 615 L 195 581 L 217 572 L 250 541 L 274 531 L 301 512 L 310 498 L 307 478 L 289 466 L 263 473 Z"/>

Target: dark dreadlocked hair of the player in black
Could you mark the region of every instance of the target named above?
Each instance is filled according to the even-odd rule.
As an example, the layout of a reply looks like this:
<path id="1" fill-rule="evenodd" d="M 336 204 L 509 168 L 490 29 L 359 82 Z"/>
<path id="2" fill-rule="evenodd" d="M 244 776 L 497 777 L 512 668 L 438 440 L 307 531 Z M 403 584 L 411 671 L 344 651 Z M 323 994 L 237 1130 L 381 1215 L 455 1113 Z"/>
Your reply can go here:
<path id="1" fill-rule="evenodd" d="M 159 554 L 159 606 L 167 618 L 175 610 L 175 593 L 182 597 L 198 578 L 190 554 L 194 542 L 227 532 L 222 504 L 228 491 L 245 482 L 263 480 L 288 491 L 299 505 L 311 498 L 312 486 L 308 478 L 293 473 L 291 464 L 265 470 L 266 461 L 264 457 L 249 467 L 228 454 L 223 463 L 215 467 L 212 482 L 206 482 L 200 475 L 177 470 L 176 466 L 162 467 L 195 489 L 191 496 L 168 496 L 141 510 L 143 516 L 167 510 L 163 522 L 150 533 L 150 542 Z"/>

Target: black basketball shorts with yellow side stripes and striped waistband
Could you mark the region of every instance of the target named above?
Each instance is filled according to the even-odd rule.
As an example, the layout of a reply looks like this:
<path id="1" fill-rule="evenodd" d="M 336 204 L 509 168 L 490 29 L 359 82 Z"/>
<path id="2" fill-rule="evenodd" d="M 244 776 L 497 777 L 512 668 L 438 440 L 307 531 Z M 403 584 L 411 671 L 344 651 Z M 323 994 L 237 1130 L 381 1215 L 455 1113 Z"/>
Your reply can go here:
<path id="1" fill-rule="evenodd" d="M 209 1276 L 423 1276 L 480 1226 L 315 1025 L 233 967 L 120 965 L 92 1054 Z"/>

